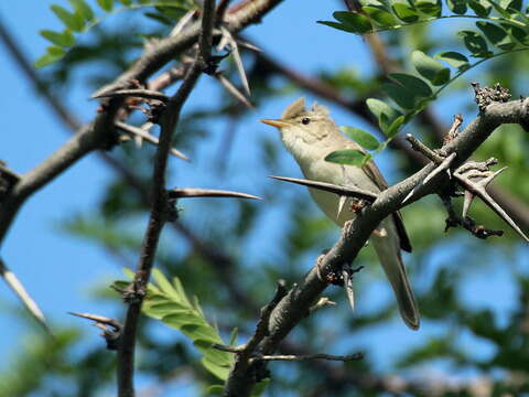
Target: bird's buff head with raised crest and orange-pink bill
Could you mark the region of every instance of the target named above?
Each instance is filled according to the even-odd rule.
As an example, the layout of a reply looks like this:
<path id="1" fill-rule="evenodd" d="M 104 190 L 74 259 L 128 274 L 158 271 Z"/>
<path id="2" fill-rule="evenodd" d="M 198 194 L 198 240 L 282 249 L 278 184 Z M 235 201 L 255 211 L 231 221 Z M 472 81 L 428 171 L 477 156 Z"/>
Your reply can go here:
<path id="1" fill-rule="evenodd" d="M 311 110 L 306 110 L 303 97 L 289 105 L 280 119 L 260 121 L 277 127 L 285 147 L 294 154 L 306 146 L 317 144 L 337 131 L 336 125 L 328 117 L 328 109 L 314 104 Z"/>

